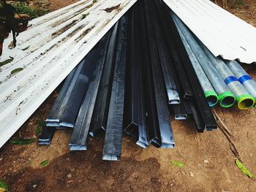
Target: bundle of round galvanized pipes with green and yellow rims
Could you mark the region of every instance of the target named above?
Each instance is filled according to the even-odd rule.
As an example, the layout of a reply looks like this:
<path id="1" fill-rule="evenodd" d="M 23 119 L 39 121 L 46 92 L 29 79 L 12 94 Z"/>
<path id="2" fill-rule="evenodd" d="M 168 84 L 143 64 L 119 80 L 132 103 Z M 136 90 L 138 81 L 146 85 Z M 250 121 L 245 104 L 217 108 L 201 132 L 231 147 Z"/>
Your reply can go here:
<path id="1" fill-rule="evenodd" d="M 221 107 L 232 107 L 235 102 L 240 110 L 253 107 L 256 82 L 252 77 L 249 77 L 237 61 L 222 61 L 215 57 L 174 13 L 171 16 L 209 105 L 214 107 L 219 101 Z"/>

